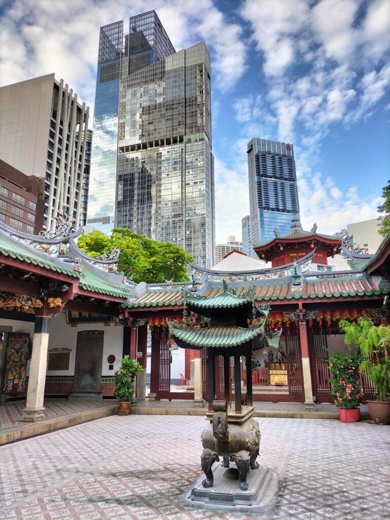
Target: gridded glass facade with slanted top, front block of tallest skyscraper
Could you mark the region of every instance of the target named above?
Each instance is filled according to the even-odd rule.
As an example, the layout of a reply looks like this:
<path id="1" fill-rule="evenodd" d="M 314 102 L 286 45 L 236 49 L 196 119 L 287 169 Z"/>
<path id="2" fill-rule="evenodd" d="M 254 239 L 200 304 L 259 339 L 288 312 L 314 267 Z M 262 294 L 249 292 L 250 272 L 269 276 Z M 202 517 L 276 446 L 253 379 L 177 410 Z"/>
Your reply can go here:
<path id="1" fill-rule="evenodd" d="M 214 258 L 210 56 L 204 43 L 121 80 L 118 227 Z"/>

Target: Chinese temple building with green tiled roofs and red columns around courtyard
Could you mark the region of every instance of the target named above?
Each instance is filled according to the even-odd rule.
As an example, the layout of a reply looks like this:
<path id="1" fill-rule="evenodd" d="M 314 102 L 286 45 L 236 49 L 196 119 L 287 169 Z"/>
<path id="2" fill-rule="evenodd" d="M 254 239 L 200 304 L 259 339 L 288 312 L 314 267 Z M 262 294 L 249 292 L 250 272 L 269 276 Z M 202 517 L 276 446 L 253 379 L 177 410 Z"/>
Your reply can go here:
<path id="1" fill-rule="evenodd" d="M 126 355 L 145 367 L 137 381 L 138 400 L 194 399 L 197 382 L 198 400 L 208 401 L 207 350 L 200 343 L 181 348 L 184 339 L 178 333 L 170 338 L 174 325 L 167 321 L 197 330 L 198 337 L 212 336 L 216 323 L 209 304 L 200 303 L 225 302 L 239 311 L 238 302 L 251 294 L 257 307 L 271 306 L 265 333 L 279 341 L 279 347 L 271 342 L 251 353 L 253 400 L 329 402 L 323 347 L 344 348 L 340 320 L 388 319 L 390 237 L 373 256 L 351 256 L 352 270 L 334 271 L 325 260 L 340 240 L 300 227 L 292 228 L 294 238 L 290 233 L 255 244 L 272 267 L 229 272 L 190 265 L 187 282 L 135 284 L 118 272 L 118 252 L 101 258 L 83 253 L 77 247 L 82 229 L 74 230 L 66 219 L 40 236 L 0 223 L 1 401 L 27 398 L 24 419 L 37 421 L 44 417 L 44 396 L 112 397 L 113 374 Z M 274 265 L 272 255 L 280 246 L 288 256 L 283 265 Z M 245 334 L 255 333 L 258 319 L 242 322 Z M 225 373 L 234 369 L 220 353 L 214 361 L 215 394 L 223 399 Z M 245 356 L 239 373 L 245 393 L 251 383 Z M 363 386 L 370 397 L 369 381 Z"/>

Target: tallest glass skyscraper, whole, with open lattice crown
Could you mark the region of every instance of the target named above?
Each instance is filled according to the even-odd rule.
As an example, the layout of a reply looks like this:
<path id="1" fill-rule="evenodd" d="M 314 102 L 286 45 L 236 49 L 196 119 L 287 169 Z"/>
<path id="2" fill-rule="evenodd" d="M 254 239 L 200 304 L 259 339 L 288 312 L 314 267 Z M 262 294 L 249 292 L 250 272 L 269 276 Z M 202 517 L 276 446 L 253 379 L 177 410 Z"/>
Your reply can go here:
<path id="1" fill-rule="evenodd" d="M 87 224 L 213 264 L 210 81 L 204 42 L 175 53 L 154 11 L 101 28 Z"/>

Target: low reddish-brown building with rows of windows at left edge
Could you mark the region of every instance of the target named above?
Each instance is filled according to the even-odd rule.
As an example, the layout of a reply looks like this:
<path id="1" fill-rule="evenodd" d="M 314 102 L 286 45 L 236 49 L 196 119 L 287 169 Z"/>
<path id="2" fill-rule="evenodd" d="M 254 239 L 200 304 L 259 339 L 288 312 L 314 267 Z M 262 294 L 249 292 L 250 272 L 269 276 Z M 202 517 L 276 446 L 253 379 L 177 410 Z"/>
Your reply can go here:
<path id="1" fill-rule="evenodd" d="M 43 227 L 45 180 L 24 175 L 0 159 L 0 222 L 23 233 Z"/>

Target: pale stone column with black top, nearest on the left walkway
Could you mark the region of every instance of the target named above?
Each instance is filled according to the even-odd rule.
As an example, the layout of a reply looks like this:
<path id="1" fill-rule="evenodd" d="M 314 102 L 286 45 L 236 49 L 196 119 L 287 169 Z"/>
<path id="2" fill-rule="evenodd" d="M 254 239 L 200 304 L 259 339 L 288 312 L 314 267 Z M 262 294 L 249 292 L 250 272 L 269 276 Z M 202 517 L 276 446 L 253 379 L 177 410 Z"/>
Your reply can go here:
<path id="1" fill-rule="evenodd" d="M 30 361 L 27 402 L 22 421 L 35 422 L 45 418 L 43 398 L 45 394 L 47 346 L 49 343 L 49 316 L 36 316 L 32 357 Z"/>

